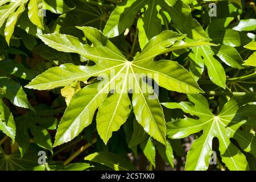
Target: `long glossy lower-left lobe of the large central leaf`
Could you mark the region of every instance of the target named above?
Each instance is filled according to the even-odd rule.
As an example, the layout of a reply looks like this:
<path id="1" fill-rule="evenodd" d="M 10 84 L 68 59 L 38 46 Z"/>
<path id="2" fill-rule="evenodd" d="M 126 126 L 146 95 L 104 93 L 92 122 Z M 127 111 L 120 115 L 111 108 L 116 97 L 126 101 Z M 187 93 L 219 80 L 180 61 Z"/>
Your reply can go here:
<path id="1" fill-rule="evenodd" d="M 85 86 L 77 92 L 61 118 L 53 146 L 72 140 L 86 126 L 90 125 L 94 112 L 107 95 L 108 93 L 104 93 L 104 89 L 98 92 L 98 84 Z"/>

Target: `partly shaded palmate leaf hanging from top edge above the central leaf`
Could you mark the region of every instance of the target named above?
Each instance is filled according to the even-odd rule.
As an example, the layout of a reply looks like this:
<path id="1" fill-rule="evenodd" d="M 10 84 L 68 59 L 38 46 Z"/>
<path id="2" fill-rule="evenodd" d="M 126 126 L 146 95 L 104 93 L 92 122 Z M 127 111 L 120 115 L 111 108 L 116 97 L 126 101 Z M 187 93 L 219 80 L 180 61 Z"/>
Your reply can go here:
<path id="1" fill-rule="evenodd" d="M 126 0 L 112 12 L 104 28 L 104 35 L 112 38 L 118 36 L 130 27 L 137 13 L 144 9 L 138 20 L 139 43 L 144 48 L 148 40 L 161 31 L 160 9 L 170 14 L 172 26 L 189 38 L 209 40 L 200 24 L 193 19 L 190 7 L 180 0 Z M 163 15 L 165 16 L 165 15 Z M 166 27 L 168 28 L 168 27 Z"/>

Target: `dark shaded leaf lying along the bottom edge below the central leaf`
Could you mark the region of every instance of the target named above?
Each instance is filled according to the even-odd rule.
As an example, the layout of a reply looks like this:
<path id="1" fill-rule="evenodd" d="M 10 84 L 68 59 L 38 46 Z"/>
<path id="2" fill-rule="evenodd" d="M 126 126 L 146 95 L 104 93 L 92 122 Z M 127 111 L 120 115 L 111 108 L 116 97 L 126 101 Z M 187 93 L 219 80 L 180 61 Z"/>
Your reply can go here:
<path id="1" fill-rule="evenodd" d="M 115 171 L 135 171 L 136 168 L 121 155 L 110 153 L 110 152 L 95 152 L 84 158 L 85 160 L 90 160 L 92 162 L 100 163 L 108 166 Z"/>

